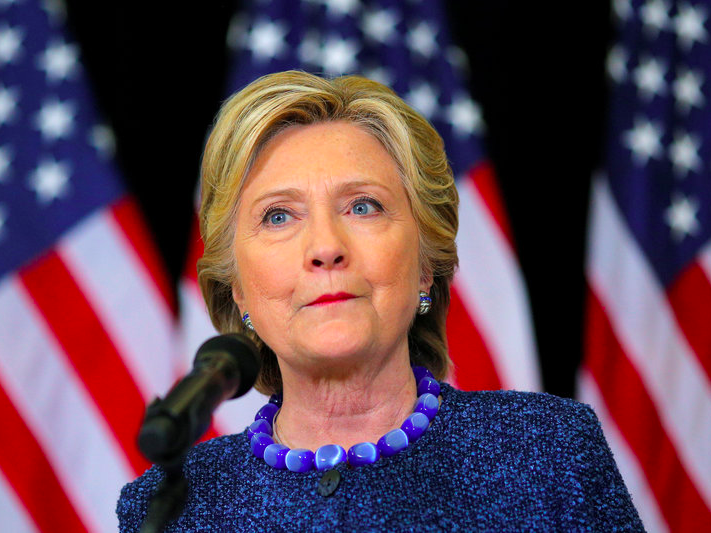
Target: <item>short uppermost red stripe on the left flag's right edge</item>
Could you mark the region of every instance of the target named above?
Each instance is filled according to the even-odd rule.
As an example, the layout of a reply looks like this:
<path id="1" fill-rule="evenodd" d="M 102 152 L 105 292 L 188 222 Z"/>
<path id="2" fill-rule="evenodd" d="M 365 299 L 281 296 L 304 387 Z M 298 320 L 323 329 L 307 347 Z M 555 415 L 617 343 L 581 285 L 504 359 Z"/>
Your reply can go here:
<path id="1" fill-rule="evenodd" d="M 114 204 L 111 208 L 111 213 L 126 235 L 130 247 L 136 251 L 138 259 L 146 266 L 151 279 L 163 295 L 166 304 L 176 315 L 178 307 L 175 291 L 173 291 L 168 279 L 163 261 L 158 255 L 148 225 L 135 200 L 131 197 L 123 198 Z"/>

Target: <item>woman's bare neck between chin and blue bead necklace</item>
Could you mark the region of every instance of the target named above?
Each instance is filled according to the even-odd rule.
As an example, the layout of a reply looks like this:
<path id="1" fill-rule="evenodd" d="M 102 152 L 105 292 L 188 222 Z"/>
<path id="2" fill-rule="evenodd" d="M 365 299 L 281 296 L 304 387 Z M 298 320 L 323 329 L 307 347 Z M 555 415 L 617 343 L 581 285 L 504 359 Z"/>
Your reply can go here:
<path id="1" fill-rule="evenodd" d="M 411 413 L 417 386 L 409 357 L 360 366 L 347 376 L 295 375 L 282 368 L 284 401 L 277 431 L 290 448 L 315 450 L 339 444 L 377 442 Z"/>

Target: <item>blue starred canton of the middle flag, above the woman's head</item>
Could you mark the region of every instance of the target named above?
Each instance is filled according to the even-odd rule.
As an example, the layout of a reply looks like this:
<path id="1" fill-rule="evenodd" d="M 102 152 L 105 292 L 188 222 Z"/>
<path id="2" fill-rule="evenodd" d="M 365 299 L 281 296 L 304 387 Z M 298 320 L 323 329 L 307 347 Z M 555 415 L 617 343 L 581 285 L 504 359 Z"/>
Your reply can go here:
<path id="1" fill-rule="evenodd" d="M 434 125 L 455 175 L 484 156 L 481 110 L 462 82 L 467 59 L 452 45 L 440 2 L 254 0 L 228 39 L 236 60 L 231 91 L 289 69 L 361 74 Z"/>

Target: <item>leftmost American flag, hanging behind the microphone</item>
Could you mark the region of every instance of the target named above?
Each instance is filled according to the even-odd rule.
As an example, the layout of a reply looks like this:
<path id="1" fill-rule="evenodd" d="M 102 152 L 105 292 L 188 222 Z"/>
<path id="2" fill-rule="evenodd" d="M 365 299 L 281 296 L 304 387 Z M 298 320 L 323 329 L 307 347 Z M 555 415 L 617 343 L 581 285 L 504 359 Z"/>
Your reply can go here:
<path id="1" fill-rule="evenodd" d="M 59 2 L 0 1 L 0 529 L 115 531 L 172 296 Z"/>

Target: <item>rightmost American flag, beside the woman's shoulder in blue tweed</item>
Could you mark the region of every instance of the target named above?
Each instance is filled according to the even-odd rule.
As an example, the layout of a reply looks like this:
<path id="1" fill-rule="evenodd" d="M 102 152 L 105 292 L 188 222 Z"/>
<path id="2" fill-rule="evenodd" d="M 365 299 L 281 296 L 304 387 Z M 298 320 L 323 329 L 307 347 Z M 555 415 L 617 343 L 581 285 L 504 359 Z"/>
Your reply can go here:
<path id="1" fill-rule="evenodd" d="M 614 2 L 585 362 L 649 531 L 711 531 L 711 2 Z"/>

